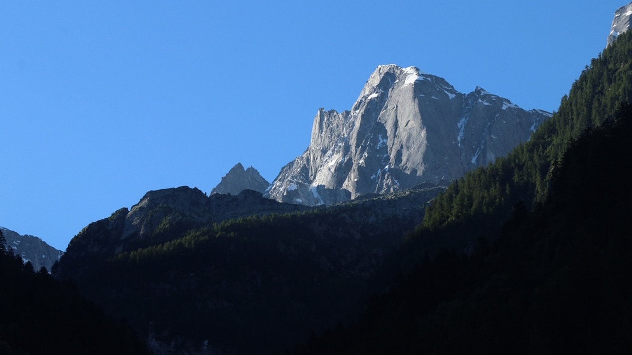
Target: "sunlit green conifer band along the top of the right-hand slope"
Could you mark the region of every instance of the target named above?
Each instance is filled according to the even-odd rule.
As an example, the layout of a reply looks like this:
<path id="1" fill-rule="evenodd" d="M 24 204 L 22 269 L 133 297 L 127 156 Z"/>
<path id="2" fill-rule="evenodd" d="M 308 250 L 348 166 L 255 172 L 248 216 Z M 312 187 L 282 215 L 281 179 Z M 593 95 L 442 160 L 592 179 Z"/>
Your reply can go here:
<path id="1" fill-rule="evenodd" d="M 571 140 L 586 128 L 612 119 L 617 108 L 632 99 L 630 37 L 630 33 L 622 34 L 616 45 L 592 59 L 573 83 L 569 95 L 562 97 L 559 110 L 528 142 L 507 157 L 468 172 L 451 184 L 427 208 L 423 227 L 436 229 L 467 221 L 468 230 L 484 234 L 490 215 L 497 215 L 492 218 L 497 223 L 509 216 L 507 211 L 518 201 L 528 208 L 544 202 L 550 188 L 550 172 L 559 165 Z M 479 217 L 484 223 L 477 222 Z"/>

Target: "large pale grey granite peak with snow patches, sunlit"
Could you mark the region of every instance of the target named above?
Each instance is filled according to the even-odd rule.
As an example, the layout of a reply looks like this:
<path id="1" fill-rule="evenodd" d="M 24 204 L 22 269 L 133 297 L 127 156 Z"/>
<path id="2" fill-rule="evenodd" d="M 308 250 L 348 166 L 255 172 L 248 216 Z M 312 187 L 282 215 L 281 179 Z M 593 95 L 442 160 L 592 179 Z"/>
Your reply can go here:
<path id="1" fill-rule="evenodd" d="M 415 67 L 378 66 L 350 111 L 319 109 L 309 147 L 265 196 L 329 205 L 450 181 L 506 155 L 550 116 L 480 87 L 458 92 Z"/>

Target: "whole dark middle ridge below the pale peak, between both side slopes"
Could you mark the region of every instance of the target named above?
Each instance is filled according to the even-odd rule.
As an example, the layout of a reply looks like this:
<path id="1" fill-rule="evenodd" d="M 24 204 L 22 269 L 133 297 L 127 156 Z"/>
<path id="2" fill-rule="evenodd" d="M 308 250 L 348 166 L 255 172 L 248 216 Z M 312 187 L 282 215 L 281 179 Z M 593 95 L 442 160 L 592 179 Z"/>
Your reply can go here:
<path id="1" fill-rule="evenodd" d="M 255 191 L 150 191 L 73 238 L 54 274 L 125 316 L 157 353 L 270 353 L 357 315 L 370 275 L 442 188 L 316 209 Z"/>

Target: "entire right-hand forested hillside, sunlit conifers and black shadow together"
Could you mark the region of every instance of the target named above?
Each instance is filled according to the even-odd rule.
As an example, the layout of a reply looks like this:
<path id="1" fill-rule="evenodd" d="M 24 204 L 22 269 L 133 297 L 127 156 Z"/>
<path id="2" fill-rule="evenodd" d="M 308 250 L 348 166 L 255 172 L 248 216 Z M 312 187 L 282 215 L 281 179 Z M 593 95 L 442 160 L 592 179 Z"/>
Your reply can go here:
<path id="1" fill-rule="evenodd" d="M 293 353 L 629 354 L 631 61 L 625 33 L 528 143 L 435 199 L 410 272 Z"/>

